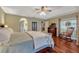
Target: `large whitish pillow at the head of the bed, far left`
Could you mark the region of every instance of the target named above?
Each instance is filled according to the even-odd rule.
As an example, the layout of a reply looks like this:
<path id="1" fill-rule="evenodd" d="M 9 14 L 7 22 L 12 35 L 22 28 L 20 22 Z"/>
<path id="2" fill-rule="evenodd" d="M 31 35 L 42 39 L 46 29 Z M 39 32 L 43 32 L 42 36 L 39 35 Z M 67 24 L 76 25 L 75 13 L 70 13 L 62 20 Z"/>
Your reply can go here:
<path id="1" fill-rule="evenodd" d="M 0 29 L 0 43 L 5 43 L 10 40 L 11 32 L 6 28 Z"/>

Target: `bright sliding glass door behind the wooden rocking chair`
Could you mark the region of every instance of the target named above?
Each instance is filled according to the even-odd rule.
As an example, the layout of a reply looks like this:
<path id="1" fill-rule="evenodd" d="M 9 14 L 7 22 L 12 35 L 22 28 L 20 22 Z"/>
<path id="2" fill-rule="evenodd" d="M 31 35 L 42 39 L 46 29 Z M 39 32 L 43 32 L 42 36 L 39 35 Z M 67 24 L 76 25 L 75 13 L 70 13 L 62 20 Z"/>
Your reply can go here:
<path id="1" fill-rule="evenodd" d="M 77 39 L 76 26 L 77 26 L 76 18 L 62 19 L 60 21 L 60 33 L 66 32 L 68 27 L 74 27 L 72 39 Z"/>

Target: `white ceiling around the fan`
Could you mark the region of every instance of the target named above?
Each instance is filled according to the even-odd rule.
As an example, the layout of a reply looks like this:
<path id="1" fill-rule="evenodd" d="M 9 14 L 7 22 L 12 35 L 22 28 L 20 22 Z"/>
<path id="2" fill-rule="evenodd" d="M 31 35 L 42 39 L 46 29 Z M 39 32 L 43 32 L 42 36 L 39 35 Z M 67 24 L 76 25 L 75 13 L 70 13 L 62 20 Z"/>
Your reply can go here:
<path id="1" fill-rule="evenodd" d="M 51 9 L 52 12 L 48 12 L 46 16 L 41 16 L 35 12 L 35 8 L 41 8 L 41 6 L 4 6 L 1 8 L 8 14 L 35 17 L 40 19 L 54 18 L 79 11 L 78 6 L 48 6 L 48 9 Z"/>

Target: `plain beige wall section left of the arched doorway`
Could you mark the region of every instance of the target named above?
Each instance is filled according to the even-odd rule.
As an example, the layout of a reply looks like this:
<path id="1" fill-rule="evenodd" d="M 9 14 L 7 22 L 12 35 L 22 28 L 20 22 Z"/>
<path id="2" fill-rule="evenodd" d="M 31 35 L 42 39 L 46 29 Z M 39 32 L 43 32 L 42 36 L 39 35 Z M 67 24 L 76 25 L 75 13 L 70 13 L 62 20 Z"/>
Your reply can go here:
<path id="1" fill-rule="evenodd" d="M 8 25 L 8 27 L 11 27 L 14 31 L 18 32 L 20 18 L 21 17 L 19 17 L 19 16 L 6 14 L 5 24 Z"/>

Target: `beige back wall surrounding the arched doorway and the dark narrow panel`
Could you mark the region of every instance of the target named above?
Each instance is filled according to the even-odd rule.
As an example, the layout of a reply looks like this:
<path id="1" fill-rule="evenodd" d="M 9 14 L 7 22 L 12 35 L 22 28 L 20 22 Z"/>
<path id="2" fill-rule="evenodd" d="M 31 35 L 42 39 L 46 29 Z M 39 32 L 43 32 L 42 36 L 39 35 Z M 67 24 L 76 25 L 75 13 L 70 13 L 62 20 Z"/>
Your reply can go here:
<path id="1" fill-rule="evenodd" d="M 37 22 L 37 30 L 41 31 L 41 21 L 40 19 L 36 19 L 36 18 L 28 18 L 28 17 L 23 17 L 23 16 L 6 14 L 5 24 L 11 27 L 14 31 L 19 32 L 19 20 L 21 18 L 27 19 L 29 31 L 32 30 L 32 22 Z"/>

